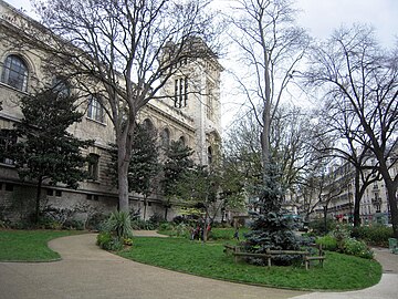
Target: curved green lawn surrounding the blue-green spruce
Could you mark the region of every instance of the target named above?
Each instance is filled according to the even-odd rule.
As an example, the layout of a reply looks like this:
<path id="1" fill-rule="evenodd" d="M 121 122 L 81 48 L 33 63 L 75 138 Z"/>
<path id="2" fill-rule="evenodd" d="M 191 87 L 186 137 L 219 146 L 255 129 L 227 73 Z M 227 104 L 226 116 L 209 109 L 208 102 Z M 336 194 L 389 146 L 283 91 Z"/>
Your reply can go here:
<path id="1" fill-rule="evenodd" d="M 375 260 L 327 252 L 324 268 L 259 267 L 235 264 L 223 254 L 222 243 L 202 244 L 184 238 L 135 238 L 128 251 L 118 255 L 171 270 L 230 281 L 291 289 L 354 290 L 370 287 L 381 277 Z"/>

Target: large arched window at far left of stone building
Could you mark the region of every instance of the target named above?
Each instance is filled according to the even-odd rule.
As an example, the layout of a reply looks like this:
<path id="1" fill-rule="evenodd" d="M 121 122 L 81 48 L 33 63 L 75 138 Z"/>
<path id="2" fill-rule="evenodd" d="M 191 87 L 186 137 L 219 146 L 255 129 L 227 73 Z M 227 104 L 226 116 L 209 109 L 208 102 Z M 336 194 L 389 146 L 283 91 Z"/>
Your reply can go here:
<path id="1" fill-rule="evenodd" d="M 18 55 L 8 55 L 1 73 L 1 82 L 20 91 L 28 89 L 28 66 Z"/>

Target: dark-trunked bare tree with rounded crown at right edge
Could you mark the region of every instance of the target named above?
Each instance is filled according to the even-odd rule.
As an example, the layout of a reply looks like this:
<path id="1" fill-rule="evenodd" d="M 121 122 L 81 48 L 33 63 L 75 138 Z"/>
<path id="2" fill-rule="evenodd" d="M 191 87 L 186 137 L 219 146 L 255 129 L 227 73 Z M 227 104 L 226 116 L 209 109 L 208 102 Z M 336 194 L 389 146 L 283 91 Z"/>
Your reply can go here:
<path id="1" fill-rule="evenodd" d="M 398 237 L 397 163 L 398 65 L 397 51 L 383 51 L 373 30 L 355 25 L 335 31 L 315 49 L 308 82 L 324 92 L 327 114 L 342 138 L 374 155 L 374 168 L 381 175 L 388 194 L 394 234 Z M 324 116 L 323 116 L 324 117 Z M 360 155 L 360 154 L 359 154 Z M 363 154 L 364 155 L 364 154 Z M 352 156 L 350 156 L 352 158 Z"/>

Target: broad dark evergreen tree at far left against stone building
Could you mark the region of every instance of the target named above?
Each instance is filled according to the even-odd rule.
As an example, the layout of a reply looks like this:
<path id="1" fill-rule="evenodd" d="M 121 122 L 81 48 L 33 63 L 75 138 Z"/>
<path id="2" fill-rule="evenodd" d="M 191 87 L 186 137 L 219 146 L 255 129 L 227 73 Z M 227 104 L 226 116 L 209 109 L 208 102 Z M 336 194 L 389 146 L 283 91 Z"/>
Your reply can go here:
<path id="1" fill-rule="evenodd" d="M 13 159 L 22 179 L 36 184 L 35 214 L 38 221 L 43 183 L 66 184 L 77 188 L 78 182 L 86 177 L 86 158 L 81 148 L 92 141 L 81 141 L 67 128 L 82 121 L 77 111 L 76 96 L 65 91 L 49 89 L 21 99 L 23 118 L 17 124 L 21 138 L 14 146 Z"/>

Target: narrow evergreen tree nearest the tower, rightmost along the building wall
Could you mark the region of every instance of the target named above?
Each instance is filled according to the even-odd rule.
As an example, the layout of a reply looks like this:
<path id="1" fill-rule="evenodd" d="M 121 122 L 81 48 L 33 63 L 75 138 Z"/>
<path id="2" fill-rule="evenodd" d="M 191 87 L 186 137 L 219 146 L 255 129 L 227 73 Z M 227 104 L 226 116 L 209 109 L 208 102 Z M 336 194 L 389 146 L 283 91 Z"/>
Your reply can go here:
<path id="1" fill-rule="evenodd" d="M 171 141 L 166 151 L 166 161 L 163 167 L 164 177 L 161 179 L 165 219 L 167 219 L 168 209 L 171 207 L 171 199 L 180 195 L 178 184 L 182 181 L 185 172 L 193 167 L 192 153 L 193 151 L 190 147 L 179 141 Z"/>

